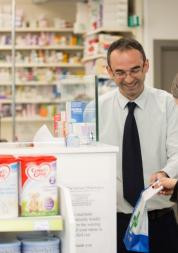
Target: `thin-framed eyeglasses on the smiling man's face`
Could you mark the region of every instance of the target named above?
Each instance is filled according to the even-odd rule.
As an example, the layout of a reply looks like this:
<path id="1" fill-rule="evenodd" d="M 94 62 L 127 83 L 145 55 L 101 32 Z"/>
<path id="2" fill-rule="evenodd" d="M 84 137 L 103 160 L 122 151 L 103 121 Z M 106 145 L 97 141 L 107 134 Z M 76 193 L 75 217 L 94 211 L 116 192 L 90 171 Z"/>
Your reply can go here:
<path id="1" fill-rule="evenodd" d="M 139 73 L 141 73 L 143 71 L 143 67 L 144 65 L 141 67 L 141 66 L 135 66 L 129 70 L 116 70 L 116 71 L 113 71 L 112 69 L 112 72 L 113 72 L 113 75 L 118 78 L 118 79 L 125 79 L 127 77 L 127 75 L 130 75 L 131 77 L 135 77 L 137 76 Z"/>

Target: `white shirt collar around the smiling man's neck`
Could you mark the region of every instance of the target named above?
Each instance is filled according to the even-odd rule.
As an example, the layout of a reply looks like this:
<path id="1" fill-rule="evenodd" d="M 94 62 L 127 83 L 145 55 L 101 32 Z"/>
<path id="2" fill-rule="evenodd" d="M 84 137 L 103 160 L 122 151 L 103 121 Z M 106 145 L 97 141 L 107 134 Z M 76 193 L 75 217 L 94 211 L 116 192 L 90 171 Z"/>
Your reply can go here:
<path id="1" fill-rule="evenodd" d="M 145 103 L 147 100 L 147 93 L 148 93 L 148 88 L 146 86 L 144 86 L 144 90 L 140 94 L 140 96 L 132 101 L 132 102 L 135 102 L 137 104 L 137 106 L 140 107 L 142 110 L 145 108 Z M 120 91 L 118 92 L 118 101 L 119 101 L 119 104 L 123 110 L 126 107 L 127 103 L 130 102 L 130 100 L 128 98 L 124 97 L 120 93 Z"/>

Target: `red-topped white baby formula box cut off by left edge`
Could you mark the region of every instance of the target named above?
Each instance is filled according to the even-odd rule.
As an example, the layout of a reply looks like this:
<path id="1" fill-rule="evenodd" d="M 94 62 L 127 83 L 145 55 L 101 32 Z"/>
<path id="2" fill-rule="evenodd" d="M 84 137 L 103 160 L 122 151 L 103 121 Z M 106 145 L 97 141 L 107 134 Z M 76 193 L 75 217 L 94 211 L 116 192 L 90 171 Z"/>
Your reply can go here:
<path id="1" fill-rule="evenodd" d="M 18 216 L 18 161 L 0 156 L 0 218 Z"/>

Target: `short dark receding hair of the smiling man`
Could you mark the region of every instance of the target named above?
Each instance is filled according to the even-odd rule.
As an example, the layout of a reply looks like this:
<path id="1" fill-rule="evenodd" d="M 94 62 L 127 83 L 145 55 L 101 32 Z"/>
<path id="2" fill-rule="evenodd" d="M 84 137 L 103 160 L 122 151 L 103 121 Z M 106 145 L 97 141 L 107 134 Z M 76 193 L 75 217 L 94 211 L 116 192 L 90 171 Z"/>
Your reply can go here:
<path id="1" fill-rule="evenodd" d="M 110 56 L 111 56 L 112 51 L 114 51 L 114 50 L 125 51 L 125 50 L 130 50 L 130 49 L 138 50 L 143 56 L 143 61 L 146 60 L 146 55 L 145 55 L 144 49 L 143 49 L 142 45 L 137 40 L 131 39 L 131 38 L 122 38 L 122 39 L 114 41 L 110 45 L 108 52 L 107 52 L 108 66 L 110 66 Z"/>

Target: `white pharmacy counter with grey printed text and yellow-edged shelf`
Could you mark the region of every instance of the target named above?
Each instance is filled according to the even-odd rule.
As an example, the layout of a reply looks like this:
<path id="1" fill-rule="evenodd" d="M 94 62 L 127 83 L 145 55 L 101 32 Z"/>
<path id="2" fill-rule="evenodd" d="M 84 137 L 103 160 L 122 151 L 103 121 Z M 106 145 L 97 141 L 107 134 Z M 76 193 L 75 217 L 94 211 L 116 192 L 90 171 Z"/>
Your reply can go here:
<path id="1" fill-rule="evenodd" d="M 1 143 L 0 147 L 1 157 L 56 157 L 59 188 L 59 215 L 17 217 L 12 223 L 6 219 L 0 232 L 54 231 L 62 253 L 116 252 L 117 147 L 99 143 L 81 147 Z"/>

